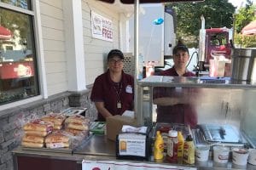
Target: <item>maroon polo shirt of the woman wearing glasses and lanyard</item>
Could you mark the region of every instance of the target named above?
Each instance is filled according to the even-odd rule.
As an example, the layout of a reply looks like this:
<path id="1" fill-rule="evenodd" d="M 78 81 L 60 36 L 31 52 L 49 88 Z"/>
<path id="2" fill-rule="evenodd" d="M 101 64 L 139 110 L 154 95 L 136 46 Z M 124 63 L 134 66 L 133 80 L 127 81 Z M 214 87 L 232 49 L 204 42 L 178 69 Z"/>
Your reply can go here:
<path id="1" fill-rule="evenodd" d="M 117 107 L 119 97 L 122 106 L 121 108 Z M 109 70 L 99 77 L 96 77 L 90 95 L 91 101 L 104 102 L 105 108 L 112 115 L 122 115 L 126 110 L 132 111 L 133 98 L 134 79 L 131 77 L 131 75 L 126 74 L 124 71 L 122 72 L 122 79 L 119 83 L 111 80 Z M 101 113 L 98 113 L 98 121 L 106 121 Z"/>

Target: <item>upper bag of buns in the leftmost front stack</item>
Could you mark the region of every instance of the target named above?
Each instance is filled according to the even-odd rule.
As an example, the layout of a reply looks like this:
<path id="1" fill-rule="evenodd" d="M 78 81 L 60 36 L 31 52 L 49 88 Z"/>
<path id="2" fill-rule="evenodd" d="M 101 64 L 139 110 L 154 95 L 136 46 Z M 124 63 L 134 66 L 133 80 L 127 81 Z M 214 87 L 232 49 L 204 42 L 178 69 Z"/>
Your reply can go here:
<path id="1" fill-rule="evenodd" d="M 46 122 L 40 119 L 26 123 L 23 129 L 25 131 L 40 131 L 40 132 L 51 132 L 53 130 L 54 124 L 52 122 Z"/>

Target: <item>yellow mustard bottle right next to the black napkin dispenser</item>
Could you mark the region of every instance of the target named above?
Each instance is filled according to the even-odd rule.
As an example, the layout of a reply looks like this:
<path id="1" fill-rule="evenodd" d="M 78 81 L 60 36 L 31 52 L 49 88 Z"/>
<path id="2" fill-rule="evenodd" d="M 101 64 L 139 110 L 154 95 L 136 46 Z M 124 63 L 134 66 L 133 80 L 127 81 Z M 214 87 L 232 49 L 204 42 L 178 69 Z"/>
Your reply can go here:
<path id="1" fill-rule="evenodd" d="M 160 160 L 164 157 L 164 139 L 161 136 L 160 131 L 156 132 L 156 139 L 154 141 L 154 159 Z"/>

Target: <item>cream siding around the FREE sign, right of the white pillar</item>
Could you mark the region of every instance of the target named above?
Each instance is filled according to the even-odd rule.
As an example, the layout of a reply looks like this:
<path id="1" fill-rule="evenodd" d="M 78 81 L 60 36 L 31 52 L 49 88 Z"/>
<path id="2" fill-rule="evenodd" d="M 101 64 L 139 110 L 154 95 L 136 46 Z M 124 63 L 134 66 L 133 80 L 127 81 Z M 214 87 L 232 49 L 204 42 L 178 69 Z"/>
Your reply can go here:
<path id="1" fill-rule="evenodd" d="M 108 8 L 109 7 L 109 8 Z M 113 22 L 113 42 L 91 37 L 90 10 Z M 111 6 L 102 5 L 95 0 L 82 0 L 84 26 L 84 62 L 86 83 L 91 84 L 106 69 L 106 56 L 112 48 L 119 48 L 119 14 Z"/>

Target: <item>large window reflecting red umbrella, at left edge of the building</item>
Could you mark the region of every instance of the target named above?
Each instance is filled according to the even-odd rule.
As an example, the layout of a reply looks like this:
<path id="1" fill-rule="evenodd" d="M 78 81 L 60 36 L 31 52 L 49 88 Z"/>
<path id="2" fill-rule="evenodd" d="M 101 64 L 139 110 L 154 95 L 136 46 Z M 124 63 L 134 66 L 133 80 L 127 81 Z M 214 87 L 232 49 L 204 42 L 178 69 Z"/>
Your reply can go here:
<path id="1" fill-rule="evenodd" d="M 31 1 L 0 2 L 0 105 L 4 105 L 36 96 L 39 88 Z"/>

